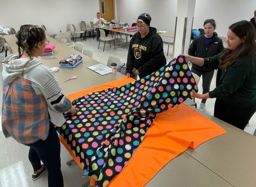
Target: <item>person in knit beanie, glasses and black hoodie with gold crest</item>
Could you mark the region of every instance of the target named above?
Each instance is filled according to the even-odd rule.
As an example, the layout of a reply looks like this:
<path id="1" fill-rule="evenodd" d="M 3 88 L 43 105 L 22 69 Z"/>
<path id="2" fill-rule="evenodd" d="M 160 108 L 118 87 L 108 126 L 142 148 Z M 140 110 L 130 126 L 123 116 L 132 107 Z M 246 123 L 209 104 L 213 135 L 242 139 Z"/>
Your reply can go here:
<path id="1" fill-rule="evenodd" d="M 131 38 L 127 57 L 126 76 L 131 77 L 133 68 L 140 78 L 149 75 L 166 65 L 163 40 L 150 27 L 151 16 L 142 13 L 137 19 L 138 32 Z"/>

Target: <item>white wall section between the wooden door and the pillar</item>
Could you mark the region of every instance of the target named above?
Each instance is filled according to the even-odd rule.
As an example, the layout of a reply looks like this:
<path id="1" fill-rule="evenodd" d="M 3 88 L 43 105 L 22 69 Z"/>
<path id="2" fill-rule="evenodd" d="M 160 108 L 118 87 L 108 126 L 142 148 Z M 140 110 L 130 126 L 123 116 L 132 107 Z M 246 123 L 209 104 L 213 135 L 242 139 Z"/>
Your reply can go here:
<path id="1" fill-rule="evenodd" d="M 174 32 L 177 0 L 117 0 L 116 8 L 116 18 L 120 22 L 127 22 L 131 26 L 141 13 L 146 12 L 151 15 L 152 27 Z"/>

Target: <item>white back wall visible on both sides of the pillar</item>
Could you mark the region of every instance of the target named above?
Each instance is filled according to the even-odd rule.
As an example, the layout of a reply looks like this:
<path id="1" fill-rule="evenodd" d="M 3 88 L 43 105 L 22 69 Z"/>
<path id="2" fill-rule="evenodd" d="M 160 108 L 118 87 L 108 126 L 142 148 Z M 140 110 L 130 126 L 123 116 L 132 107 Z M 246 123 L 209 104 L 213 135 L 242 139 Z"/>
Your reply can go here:
<path id="1" fill-rule="evenodd" d="M 174 32 L 177 0 L 117 0 L 117 19 L 135 23 L 140 13 L 151 15 L 151 26 Z M 250 20 L 256 0 L 196 0 L 193 29 L 203 28 L 205 19 L 215 19 L 219 36 L 226 36 L 228 27 L 240 20 Z"/>

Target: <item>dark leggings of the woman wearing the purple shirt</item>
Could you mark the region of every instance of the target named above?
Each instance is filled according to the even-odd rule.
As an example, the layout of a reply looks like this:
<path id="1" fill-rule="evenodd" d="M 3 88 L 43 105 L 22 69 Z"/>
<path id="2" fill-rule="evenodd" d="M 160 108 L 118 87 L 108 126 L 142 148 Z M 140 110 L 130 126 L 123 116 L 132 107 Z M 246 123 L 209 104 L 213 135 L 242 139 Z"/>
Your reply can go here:
<path id="1" fill-rule="evenodd" d="M 203 77 L 203 83 L 202 83 L 202 87 L 203 87 L 203 94 L 208 93 L 210 91 L 210 86 L 211 86 L 211 81 L 212 81 L 212 77 L 214 75 L 214 70 L 212 71 L 200 71 L 197 69 L 194 69 L 193 67 L 191 68 L 191 71 L 195 74 L 197 74 L 199 77 Z M 201 103 L 206 102 L 207 99 L 202 99 Z"/>

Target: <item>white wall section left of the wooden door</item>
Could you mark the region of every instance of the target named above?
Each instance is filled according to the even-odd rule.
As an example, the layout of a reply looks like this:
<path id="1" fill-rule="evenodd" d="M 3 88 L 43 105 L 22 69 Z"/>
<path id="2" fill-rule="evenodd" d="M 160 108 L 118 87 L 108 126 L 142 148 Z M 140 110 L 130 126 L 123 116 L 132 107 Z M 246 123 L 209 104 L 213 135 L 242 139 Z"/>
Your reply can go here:
<path id="1" fill-rule="evenodd" d="M 90 27 L 99 12 L 97 0 L 0 0 L 0 4 L 0 25 L 15 30 L 23 24 L 44 24 L 49 32 L 66 32 L 68 23 L 80 30 L 79 22 Z"/>

